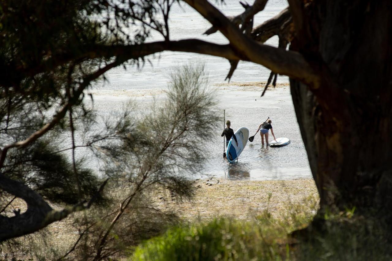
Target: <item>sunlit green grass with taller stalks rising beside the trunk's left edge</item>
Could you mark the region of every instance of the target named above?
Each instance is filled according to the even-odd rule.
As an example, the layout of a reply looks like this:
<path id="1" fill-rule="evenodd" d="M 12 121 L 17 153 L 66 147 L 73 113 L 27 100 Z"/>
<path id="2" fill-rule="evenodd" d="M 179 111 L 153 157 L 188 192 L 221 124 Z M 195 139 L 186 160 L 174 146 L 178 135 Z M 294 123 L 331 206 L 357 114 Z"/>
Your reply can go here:
<path id="1" fill-rule="evenodd" d="M 132 260 L 291 260 L 288 234 L 307 225 L 317 208 L 317 198 L 309 197 L 301 205 L 288 204 L 282 219 L 267 207 L 251 221 L 221 217 L 184 224 L 143 242 Z"/>

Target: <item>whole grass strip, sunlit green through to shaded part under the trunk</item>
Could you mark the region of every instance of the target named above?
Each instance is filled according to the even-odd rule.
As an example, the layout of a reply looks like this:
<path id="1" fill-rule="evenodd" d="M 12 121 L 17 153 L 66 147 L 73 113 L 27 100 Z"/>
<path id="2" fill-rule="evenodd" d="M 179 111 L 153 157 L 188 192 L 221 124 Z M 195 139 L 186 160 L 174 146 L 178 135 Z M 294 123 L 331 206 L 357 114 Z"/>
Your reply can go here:
<path id="1" fill-rule="evenodd" d="M 303 230 L 317 209 L 317 199 L 287 206 L 282 219 L 268 207 L 252 221 L 228 218 L 172 227 L 162 236 L 140 244 L 132 260 L 392 260 L 387 226 L 355 215 L 355 209 L 318 217 L 322 228 Z"/>

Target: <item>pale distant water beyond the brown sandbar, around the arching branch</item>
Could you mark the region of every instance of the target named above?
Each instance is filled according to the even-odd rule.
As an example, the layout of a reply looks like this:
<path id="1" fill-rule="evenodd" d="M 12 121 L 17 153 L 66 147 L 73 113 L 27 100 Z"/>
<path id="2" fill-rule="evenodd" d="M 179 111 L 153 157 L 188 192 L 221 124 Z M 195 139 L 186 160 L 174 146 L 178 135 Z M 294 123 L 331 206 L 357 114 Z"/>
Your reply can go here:
<path id="1" fill-rule="evenodd" d="M 234 16 L 243 12 L 243 7 L 237 0 L 227 0 L 224 5 L 216 4 L 218 1 L 210 1 L 216 5 L 224 14 Z M 272 18 L 281 10 L 287 7 L 287 1 L 270 0 L 265 9 L 254 18 L 255 26 Z M 224 36 L 217 32 L 209 36 L 203 33 L 209 29 L 211 24 L 200 14 L 196 13 L 185 3 L 181 7 L 175 5 L 169 19 L 171 40 L 197 38 L 217 44 L 228 44 Z M 149 42 L 161 41 L 162 36 L 153 33 Z M 274 36 L 266 44 L 278 46 L 278 37 Z M 129 89 L 159 89 L 165 88 L 169 79 L 169 74 L 176 70 L 178 66 L 189 63 L 205 63 L 209 72 L 211 83 L 224 82 L 230 69 L 228 60 L 215 56 L 208 56 L 195 53 L 169 52 L 164 51 L 146 57 L 145 64 L 137 68 L 129 67 L 126 71 L 122 66 L 111 69 L 107 73 L 109 83 L 101 83 L 94 86 L 95 90 L 129 90 Z M 150 63 L 151 62 L 151 63 Z M 270 71 L 261 65 L 251 62 L 241 61 L 234 72 L 231 81 L 254 82 L 267 81 Z M 285 76 L 279 76 L 278 82 L 288 82 Z"/>

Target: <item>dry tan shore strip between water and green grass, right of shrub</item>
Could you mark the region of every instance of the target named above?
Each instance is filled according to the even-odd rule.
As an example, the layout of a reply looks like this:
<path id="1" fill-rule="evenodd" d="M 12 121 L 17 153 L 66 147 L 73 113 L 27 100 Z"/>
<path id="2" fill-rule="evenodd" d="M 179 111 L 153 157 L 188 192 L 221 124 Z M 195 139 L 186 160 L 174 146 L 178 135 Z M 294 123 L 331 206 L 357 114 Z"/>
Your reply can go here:
<path id="1" fill-rule="evenodd" d="M 246 220 L 261 214 L 268 204 L 270 214 L 280 218 L 286 213 L 288 205 L 302 204 L 309 197 L 318 199 L 313 179 L 257 181 L 209 178 L 196 180 L 193 184 L 195 194 L 190 201 L 177 202 L 166 195 L 158 201 L 159 207 L 172 208 L 187 221 L 217 216 Z"/>

